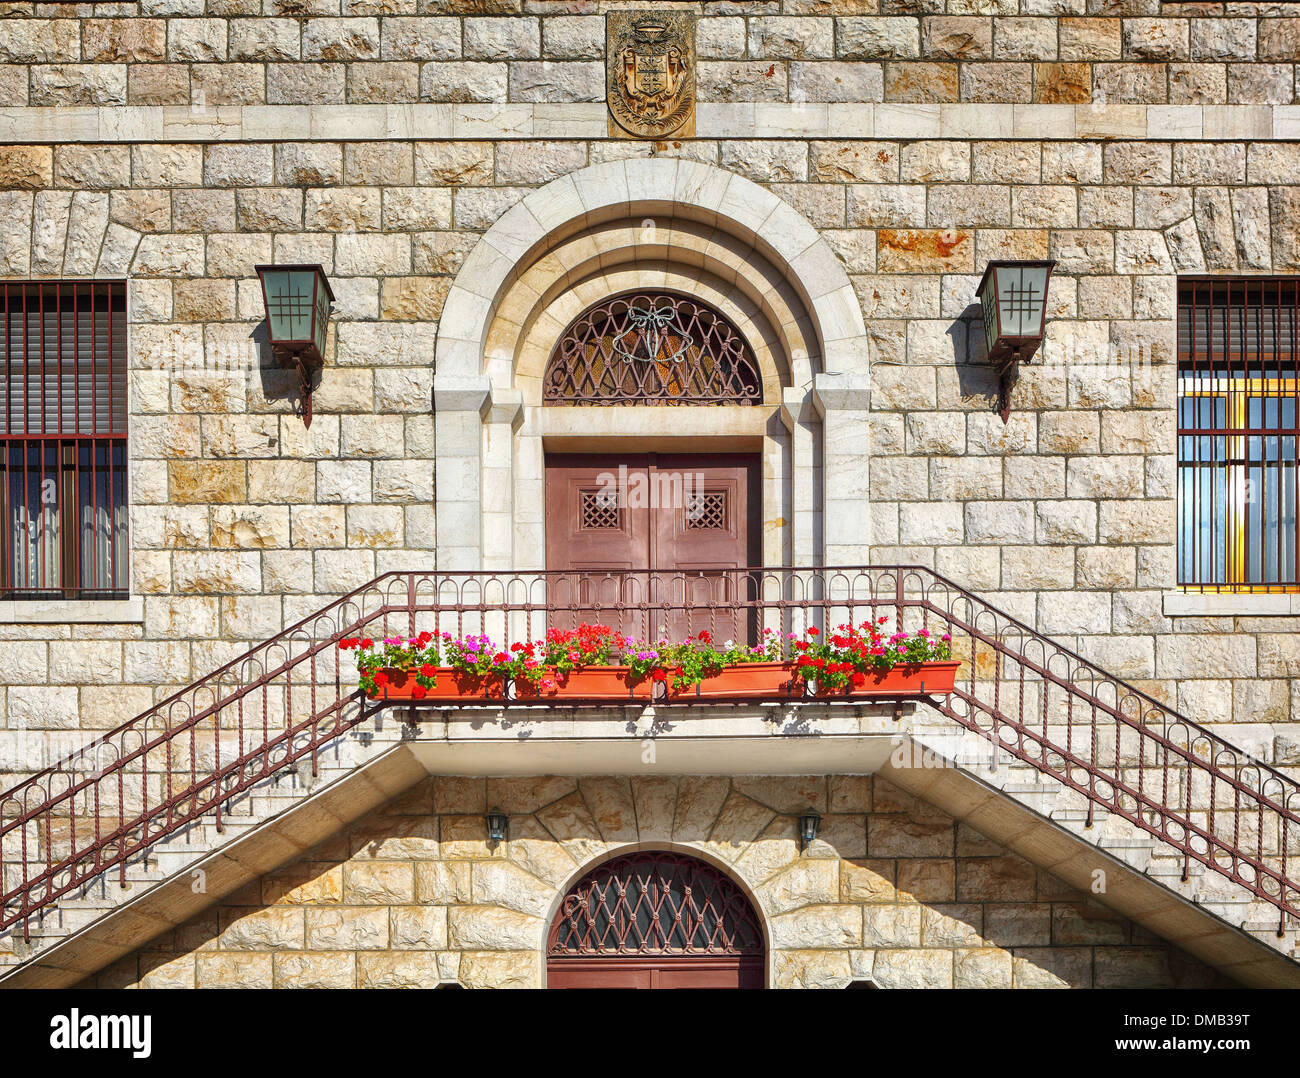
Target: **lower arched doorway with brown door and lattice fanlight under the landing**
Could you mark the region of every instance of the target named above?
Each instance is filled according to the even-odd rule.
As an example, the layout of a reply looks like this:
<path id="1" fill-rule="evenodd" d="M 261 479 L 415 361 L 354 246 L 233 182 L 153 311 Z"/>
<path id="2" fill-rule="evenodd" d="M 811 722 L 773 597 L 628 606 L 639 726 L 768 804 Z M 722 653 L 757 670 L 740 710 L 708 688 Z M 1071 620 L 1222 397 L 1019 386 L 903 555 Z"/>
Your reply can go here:
<path id="1" fill-rule="evenodd" d="M 640 850 L 569 888 L 546 945 L 549 988 L 762 988 L 763 930 L 699 858 Z"/>

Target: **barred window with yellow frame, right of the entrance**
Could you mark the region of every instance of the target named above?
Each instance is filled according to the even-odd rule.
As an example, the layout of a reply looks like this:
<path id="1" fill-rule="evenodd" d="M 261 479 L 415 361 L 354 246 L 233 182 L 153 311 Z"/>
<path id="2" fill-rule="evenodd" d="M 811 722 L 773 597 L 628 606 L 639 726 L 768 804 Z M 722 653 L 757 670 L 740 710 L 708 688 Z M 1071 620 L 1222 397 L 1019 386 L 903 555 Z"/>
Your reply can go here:
<path id="1" fill-rule="evenodd" d="M 1178 580 L 1300 590 L 1300 278 L 1178 291 Z"/>

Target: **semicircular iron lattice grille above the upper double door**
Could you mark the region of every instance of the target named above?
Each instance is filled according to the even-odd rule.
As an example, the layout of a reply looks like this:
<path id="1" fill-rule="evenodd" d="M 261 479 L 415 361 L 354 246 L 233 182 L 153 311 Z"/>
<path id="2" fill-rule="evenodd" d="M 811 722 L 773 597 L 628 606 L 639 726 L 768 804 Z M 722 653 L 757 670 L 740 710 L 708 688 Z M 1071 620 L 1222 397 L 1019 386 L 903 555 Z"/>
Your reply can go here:
<path id="1" fill-rule="evenodd" d="M 584 311 L 546 365 L 547 404 L 760 404 L 758 363 L 718 311 L 634 293 Z"/>

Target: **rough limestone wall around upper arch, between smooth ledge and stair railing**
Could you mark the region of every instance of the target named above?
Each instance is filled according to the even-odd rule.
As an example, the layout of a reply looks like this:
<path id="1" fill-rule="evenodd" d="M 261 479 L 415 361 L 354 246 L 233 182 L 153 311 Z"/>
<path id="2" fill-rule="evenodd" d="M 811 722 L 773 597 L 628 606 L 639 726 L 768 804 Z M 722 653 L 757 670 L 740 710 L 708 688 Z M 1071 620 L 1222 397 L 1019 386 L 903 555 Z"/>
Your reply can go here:
<path id="1" fill-rule="evenodd" d="M 766 182 L 848 269 L 872 346 L 874 560 L 933 566 L 1193 718 L 1231 723 L 1264 758 L 1300 761 L 1297 619 L 1165 612 L 1175 272 L 1300 259 L 1300 189 L 1286 186 L 1300 147 L 1244 140 L 6 148 L 5 277 L 129 280 L 140 602 L 126 623 L 0 625 L 8 730 L 116 724 L 329 597 L 432 566 L 432 356 L 451 276 L 523 191 L 649 153 Z M 994 255 L 1058 260 L 1049 339 L 1006 425 L 971 306 Z M 273 259 L 320 261 L 338 296 L 309 430 L 259 343 L 252 267 Z M 5 744 L 0 766 L 25 770 L 30 739 L 22 758 Z"/>

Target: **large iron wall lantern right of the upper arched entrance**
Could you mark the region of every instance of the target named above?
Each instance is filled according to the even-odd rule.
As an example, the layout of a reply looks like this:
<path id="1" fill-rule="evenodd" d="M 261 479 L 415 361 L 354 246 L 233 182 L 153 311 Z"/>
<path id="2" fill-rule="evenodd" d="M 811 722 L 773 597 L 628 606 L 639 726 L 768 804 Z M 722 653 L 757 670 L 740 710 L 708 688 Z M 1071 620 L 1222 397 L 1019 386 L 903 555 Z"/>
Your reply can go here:
<path id="1" fill-rule="evenodd" d="M 1043 343 L 1048 317 L 1048 282 L 1054 261 L 991 261 L 975 295 L 984 311 L 988 362 L 998 377 L 997 414 L 1011 415 L 1017 368 Z"/>

